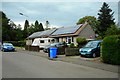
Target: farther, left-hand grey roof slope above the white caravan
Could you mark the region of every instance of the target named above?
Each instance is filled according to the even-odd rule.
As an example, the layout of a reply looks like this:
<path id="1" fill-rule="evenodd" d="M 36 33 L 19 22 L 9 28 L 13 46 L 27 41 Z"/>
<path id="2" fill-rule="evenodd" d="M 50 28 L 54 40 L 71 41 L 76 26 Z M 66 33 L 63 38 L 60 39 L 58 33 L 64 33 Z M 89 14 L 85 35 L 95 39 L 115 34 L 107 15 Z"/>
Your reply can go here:
<path id="1" fill-rule="evenodd" d="M 54 31 L 56 31 L 56 29 L 35 32 L 32 35 L 30 35 L 29 37 L 27 37 L 27 39 L 39 38 L 39 37 L 47 37 L 47 36 L 51 35 Z"/>

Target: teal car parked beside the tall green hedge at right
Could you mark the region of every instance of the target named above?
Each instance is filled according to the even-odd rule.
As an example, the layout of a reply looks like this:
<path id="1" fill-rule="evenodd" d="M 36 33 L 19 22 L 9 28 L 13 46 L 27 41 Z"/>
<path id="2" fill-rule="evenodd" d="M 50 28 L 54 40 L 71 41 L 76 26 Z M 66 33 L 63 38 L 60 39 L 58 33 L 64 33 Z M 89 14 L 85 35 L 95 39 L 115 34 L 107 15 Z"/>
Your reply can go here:
<path id="1" fill-rule="evenodd" d="M 81 56 L 85 57 L 99 57 L 100 56 L 100 43 L 102 40 L 95 40 L 88 42 L 83 48 L 79 49 Z"/>

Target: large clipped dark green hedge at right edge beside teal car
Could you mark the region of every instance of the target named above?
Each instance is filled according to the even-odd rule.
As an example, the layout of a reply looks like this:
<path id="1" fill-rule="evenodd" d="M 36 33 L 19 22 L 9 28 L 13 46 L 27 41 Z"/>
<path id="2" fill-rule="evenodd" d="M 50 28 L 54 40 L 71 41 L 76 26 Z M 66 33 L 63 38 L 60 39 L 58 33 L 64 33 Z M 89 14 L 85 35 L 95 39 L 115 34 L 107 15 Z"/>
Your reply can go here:
<path id="1" fill-rule="evenodd" d="M 102 61 L 120 64 L 120 35 L 105 37 L 102 43 Z"/>

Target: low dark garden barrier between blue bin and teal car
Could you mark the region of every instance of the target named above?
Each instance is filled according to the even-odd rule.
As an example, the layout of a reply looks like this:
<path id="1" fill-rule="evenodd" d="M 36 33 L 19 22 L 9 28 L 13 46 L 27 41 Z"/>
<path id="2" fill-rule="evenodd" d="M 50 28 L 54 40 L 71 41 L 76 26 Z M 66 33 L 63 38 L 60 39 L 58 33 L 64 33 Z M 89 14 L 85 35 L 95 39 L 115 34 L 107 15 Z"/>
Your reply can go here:
<path id="1" fill-rule="evenodd" d="M 66 56 L 76 56 L 80 55 L 79 48 L 66 48 L 65 49 L 65 55 Z"/>

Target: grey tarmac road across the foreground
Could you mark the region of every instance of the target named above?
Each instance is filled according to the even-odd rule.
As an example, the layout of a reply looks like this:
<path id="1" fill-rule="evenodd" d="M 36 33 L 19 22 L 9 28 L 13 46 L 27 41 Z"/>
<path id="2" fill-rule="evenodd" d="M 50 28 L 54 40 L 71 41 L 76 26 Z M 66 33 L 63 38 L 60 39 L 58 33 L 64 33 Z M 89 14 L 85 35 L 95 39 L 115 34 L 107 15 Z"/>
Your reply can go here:
<path id="1" fill-rule="evenodd" d="M 33 52 L 34 53 L 34 52 Z M 3 78 L 118 78 L 118 73 L 53 61 L 26 51 L 2 53 Z"/>

